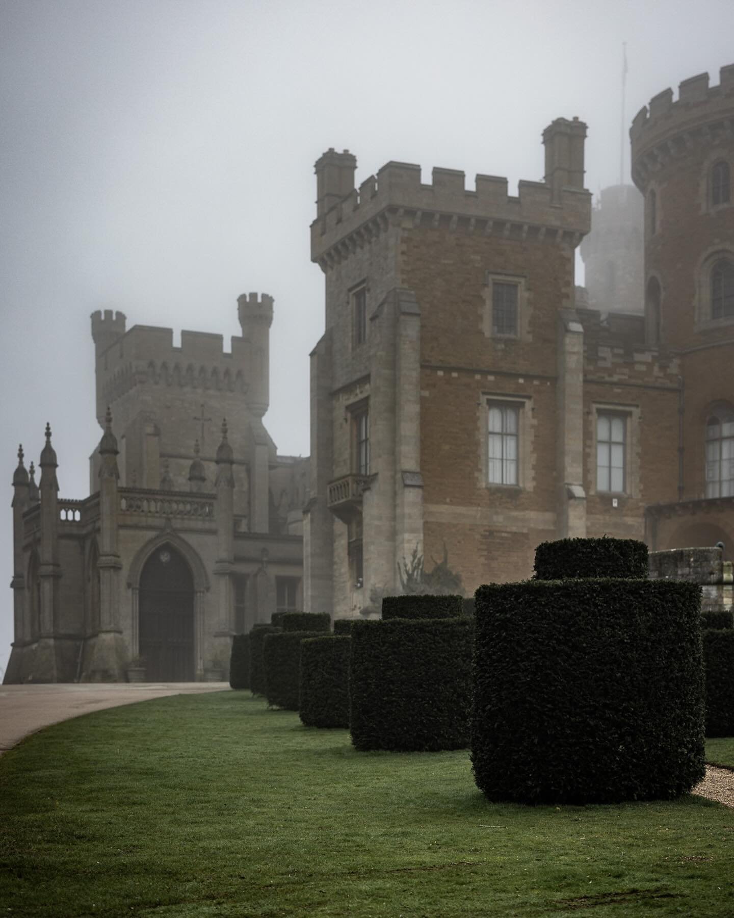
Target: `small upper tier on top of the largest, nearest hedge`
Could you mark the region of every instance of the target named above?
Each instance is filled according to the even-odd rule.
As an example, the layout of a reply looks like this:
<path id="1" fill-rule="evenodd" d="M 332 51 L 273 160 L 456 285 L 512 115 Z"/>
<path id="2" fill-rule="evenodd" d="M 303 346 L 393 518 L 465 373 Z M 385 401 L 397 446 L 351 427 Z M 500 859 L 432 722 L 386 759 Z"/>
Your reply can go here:
<path id="1" fill-rule="evenodd" d="M 646 580 L 648 546 L 635 539 L 559 539 L 535 550 L 535 579 L 624 577 Z"/>

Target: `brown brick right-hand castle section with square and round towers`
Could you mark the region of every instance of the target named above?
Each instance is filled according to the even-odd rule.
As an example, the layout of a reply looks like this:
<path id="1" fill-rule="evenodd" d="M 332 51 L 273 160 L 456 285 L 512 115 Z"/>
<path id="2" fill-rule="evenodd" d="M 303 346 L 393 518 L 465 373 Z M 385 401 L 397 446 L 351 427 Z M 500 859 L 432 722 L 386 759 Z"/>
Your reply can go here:
<path id="1" fill-rule="evenodd" d="M 543 132 L 545 179 L 316 163 L 305 603 L 336 616 L 449 549 L 467 593 L 565 536 L 734 545 L 734 65 L 634 119 L 633 188 L 591 228 L 586 126 Z M 631 256 L 631 257 L 630 257 Z M 594 308 L 590 308 L 594 307 Z M 375 593 L 376 591 L 376 593 Z"/>

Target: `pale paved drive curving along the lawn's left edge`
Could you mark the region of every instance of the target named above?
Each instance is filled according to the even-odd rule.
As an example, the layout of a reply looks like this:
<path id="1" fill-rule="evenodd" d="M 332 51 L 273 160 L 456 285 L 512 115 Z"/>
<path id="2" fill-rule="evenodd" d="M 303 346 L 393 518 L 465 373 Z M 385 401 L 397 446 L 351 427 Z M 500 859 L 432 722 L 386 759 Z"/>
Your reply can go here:
<path id="1" fill-rule="evenodd" d="M 0 686 L 0 754 L 50 723 L 121 704 L 223 691 L 228 682 L 80 682 Z"/>

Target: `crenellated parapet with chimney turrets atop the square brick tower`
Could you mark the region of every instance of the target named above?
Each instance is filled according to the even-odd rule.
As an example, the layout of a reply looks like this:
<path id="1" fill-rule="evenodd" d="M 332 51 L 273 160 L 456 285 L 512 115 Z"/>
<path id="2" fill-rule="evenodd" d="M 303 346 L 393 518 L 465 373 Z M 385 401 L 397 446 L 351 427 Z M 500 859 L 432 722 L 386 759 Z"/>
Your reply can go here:
<path id="1" fill-rule="evenodd" d="M 478 174 L 474 187 L 467 188 L 462 171 L 436 167 L 430 184 L 426 184 L 421 182 L 419 165 L 387 162 L 358 188 L 352 187 L 338 197 L 329 180 L 343 192 L 344 176 L 353 174 L 356 161 L 349 151 L 328 151 L 317 162 L 319 199 L 317 218 L 311 225 L 312 260 L 324 267 L 323 260 L 347 237 L 354 234 L 361 244 L 391 220 L 403 226 L 410 221 L 413 226 L 446 225 L 523 239 L 550 230 L 559 240 L 576 245 L 590 226 L 591 196 L 581 187 L 585 130 L 577 118 L 554 121 L 543 135 L 546 181 L 520 181 L 517 196 L 507 193 L 506 178 L 495 175 Z M 566 139 L 570 139 L 570 154 L 562 146 Z M 341 159 L 345 162 L 338 162 Z"/>

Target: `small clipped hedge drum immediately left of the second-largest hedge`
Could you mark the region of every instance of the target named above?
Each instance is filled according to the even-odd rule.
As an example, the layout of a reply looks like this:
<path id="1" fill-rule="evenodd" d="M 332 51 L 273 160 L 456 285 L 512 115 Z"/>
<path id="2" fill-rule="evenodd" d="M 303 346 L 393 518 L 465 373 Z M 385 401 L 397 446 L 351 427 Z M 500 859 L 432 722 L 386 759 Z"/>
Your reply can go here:
<path id="1" fill-rule="evenodd" d="M 306 727 L 349 727 L 350 642 L 339 634 L 301 642 L 298 713 Z"/>

